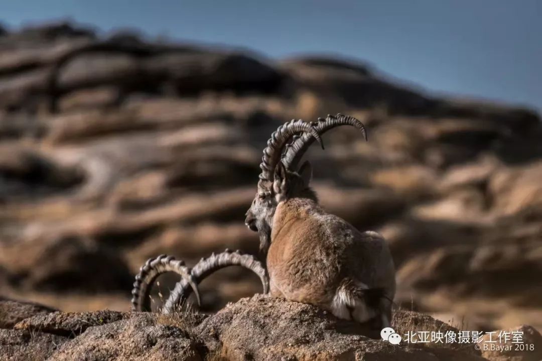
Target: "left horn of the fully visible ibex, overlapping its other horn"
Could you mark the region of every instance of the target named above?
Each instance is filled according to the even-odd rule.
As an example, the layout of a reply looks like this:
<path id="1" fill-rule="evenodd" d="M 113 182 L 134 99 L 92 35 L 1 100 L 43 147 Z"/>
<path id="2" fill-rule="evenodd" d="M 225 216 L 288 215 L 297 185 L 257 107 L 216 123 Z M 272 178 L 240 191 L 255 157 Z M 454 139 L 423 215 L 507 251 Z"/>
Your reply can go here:
<path id="1" fill-rule="evenodd" d="M 322 149 L 324 149 L 324 144 L 322 144 L 322 140 L 313 124 L 306 123 L 301 119 L 292 119 L 277 128 L 267 141 L 267 147 L 263 150 L 262 163 L 260 164 L 260 168 L 262 169 L 260 179 L 273 181 L 275 166 L 279 163 L 283 147 L 286 145 L 288 139 L 300 132 L 305 132 L 309 138 L 314 137 L 320 143 Z"/>

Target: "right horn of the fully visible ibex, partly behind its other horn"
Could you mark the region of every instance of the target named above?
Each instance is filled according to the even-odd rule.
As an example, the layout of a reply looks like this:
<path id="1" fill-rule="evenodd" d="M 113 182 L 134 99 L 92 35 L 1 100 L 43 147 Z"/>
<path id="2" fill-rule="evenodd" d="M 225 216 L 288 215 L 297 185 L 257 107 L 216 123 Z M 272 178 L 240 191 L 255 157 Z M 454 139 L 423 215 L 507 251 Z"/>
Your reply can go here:
<path id="1" fill-rule="evenodd" d="M 365 140 L 367 140 L 367 133 L 362 122 L 354 117 L 350 117 L 349 115 L 343 115 L 340 113 L 337 115 L 328 114 L 326 119 L 318 118 L 318 122 L 311 124 L 320 136 L 334 127 L 338 127 L 340 125 L 351 125 L 358 128 L 359 131 L 363 133 Z M 282 163 L 284 163 L 288 170 L 296 171 L 301 157 L 303 157 L 303 154 L 305 154 L 313 141 L 314 139 L 312 133 L 304 133 L 299 139 L 294 140 L 292 144 L 289 144 L 286 147 L 286 153 L 282 157 Z"/>

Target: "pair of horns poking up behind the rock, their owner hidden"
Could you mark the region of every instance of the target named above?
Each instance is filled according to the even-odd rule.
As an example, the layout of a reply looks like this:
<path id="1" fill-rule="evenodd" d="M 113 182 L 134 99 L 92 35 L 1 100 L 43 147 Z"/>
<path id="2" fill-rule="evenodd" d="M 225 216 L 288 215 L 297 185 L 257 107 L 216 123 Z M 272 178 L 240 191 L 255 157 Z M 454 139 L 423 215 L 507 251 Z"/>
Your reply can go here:
<path id="1" fill-rule="evenodd" d="M 211 273 L 228 266 L 241 266 L 251 270 L 262 281 L 263 293 L 267 294 L 269 292 L 269 280 L 261 262 L 256 260 L 254 256 L 242 254 L 238 250 L 232 252 L 226 249 L 225 252 L 202 258 L 192 269 L 186 267 L 183 261 L 176 260 L 172 256 L 159 255 L 156 258 L 149 259 L 135 276 L 132 289 L 132 310 L 151 311 L 151 286 L 160 274 L 166 272 L 179 274 L 181 280 L 177 282 L 163 305 L 163 313 L 172 313 L 179 310 L 183 301 L 188 299 L 191 292 L 195 293 L 198 305 L 201 305 L 198 284 Z"/>

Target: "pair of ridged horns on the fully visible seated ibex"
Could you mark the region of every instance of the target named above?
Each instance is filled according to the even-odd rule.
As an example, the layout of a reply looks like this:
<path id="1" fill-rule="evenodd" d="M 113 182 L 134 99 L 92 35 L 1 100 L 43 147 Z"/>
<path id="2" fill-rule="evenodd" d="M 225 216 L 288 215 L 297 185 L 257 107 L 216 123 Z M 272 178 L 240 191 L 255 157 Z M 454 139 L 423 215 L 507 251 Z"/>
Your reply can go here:
<path id="1" fill-rule="evenodd" d="M 325 119 L 318 118 L 316 122 L 306 123 L 301 119 L 292 119 L 288 123 L 281 125 L 271 134 L 271 138 L 267 141 L 267 147 L 263 150 L 260 179 L 273 181 L 275 167 L 280 161 L 286 166 L 286 169 L 296 171 L 299 160 L 313 141 L 317 140 L 324 149 L 324 144 L 320 138 L 321 134 L 340 125 L 356 127 L 367 140 L 367 133 L 363 124 L 354 117 L 340 113 L 337 115 L 328 114 Z M 302 133 L 301 136 L 298 136 L 299 133 Z M 287 144 L 292 137 L 292 143 Z"/>

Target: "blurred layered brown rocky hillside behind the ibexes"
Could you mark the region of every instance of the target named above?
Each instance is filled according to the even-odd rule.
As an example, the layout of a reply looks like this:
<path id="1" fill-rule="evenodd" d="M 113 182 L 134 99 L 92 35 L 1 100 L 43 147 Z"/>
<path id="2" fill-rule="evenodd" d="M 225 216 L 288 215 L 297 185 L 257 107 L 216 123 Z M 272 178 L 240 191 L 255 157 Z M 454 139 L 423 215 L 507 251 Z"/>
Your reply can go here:
<path id="1" fill-rule="evenodd" d="M 0 294 L 123 311 L 149 257 L 256 253 L 244 212 L 270 133 L 338 112 L 369 141 L 325 134 L 307 153 L 314 186 L 328 211 L 389 240 L 398 306 L 467 330 L 540 329 L 534 112 L 431 96 L 363 63 L 69 24 L 0 31 Z M 256 292 L 240 269 L 202 285 L 205 310 Z"/>

